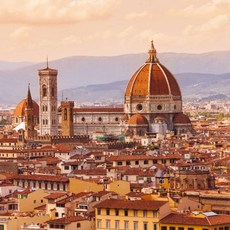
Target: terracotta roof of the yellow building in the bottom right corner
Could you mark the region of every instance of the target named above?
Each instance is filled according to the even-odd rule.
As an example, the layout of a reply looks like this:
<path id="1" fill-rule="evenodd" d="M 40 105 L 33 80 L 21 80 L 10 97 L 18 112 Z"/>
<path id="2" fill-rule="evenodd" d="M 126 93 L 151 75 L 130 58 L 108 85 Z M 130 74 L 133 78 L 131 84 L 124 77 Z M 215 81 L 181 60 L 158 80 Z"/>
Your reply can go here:
<path id="1" fill-rule="evenodd" d="M 186 214 L 171 213 L 162 220 L 162 224 L 186 224 L 186 225 L 201 225 L 201 226 L 212 226 L 220 224 L 230 224 L 230 216 L 228 215 L 215 215 L 215 216 L 204 216 L 195 217 Z"/>

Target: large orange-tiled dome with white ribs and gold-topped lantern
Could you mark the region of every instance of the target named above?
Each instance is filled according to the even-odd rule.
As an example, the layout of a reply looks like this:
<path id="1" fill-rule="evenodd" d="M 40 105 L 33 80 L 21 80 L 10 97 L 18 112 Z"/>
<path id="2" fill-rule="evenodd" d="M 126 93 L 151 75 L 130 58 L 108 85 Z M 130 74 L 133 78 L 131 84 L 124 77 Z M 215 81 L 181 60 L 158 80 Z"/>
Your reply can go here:
<path id="1" fill-rule="evenodd" d="M 176 96 L 181 98 L 180 87 L 173 74 L 156 57 L 156 50 L 151 43 L 149 57 L 130 79 L 125 96 Z"/>

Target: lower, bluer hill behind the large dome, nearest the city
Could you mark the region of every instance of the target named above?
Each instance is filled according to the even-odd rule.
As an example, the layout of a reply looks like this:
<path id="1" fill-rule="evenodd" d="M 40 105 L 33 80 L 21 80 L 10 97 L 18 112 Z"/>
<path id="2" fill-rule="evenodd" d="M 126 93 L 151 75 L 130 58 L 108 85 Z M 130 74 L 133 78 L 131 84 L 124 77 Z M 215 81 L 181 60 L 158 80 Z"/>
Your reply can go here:
<path id="1" fill-rule="evenodd" d="M 230 73 L 215 74 L 176 74 L 176 79 L 185 100 L 210 101 L 230 99 Z M 123 102 L 128 81 L 117 81 L 108 84 L 88 85 L 63 90 L 64 99 L 77 103 L 112 101 Z M 61 93 L 59 93 L 61 97 Z"/>

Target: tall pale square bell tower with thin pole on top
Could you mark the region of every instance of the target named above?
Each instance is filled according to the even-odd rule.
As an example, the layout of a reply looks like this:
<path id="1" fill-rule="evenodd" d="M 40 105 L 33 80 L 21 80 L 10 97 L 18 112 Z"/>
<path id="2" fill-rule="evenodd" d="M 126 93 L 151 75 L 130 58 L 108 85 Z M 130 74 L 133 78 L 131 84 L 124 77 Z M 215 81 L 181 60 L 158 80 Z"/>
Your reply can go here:
<path id="1" fill-rule="evenodd" d="M 47 67 L 38 71 L 40 94 L 40 135 L 58 133 L 57 74 L 56 69 Z"/>

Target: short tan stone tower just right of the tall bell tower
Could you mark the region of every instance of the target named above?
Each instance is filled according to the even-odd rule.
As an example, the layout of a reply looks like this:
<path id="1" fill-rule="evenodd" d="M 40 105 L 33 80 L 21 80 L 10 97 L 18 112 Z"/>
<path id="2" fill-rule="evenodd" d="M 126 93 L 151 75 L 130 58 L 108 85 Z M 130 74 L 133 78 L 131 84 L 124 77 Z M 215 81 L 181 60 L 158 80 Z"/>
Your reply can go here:
<path id="1" fill-rule="evenodd" d="M 73 101 L 61 102 L 62 136 L 73 136 Z"/>

